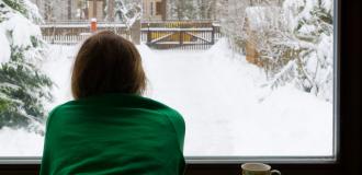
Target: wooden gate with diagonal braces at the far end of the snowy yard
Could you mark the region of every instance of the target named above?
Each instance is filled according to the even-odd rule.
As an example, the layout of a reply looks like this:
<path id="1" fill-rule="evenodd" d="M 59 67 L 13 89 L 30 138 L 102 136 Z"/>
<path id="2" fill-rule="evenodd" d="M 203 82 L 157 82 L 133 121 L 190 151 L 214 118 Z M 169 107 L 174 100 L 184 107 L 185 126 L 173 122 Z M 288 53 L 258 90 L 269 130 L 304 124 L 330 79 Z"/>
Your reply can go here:
<path id="1" fill-rule="evenodd" d="M 168 21 L 142 24 L 142 42 L 156 49 L 208 49 L 220 37 L 217 23 Z"/>

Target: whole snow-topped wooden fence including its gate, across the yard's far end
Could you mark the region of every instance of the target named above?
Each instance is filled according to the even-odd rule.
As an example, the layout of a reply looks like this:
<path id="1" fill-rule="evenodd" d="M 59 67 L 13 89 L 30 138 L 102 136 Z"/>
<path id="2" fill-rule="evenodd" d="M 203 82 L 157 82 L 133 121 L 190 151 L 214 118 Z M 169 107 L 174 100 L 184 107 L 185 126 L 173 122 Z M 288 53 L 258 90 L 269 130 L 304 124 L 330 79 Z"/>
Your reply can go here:
<path id="1" fill-rule="evenodd" d="M 87 23 L 44 24 L 41 28 L 43 38 L 49 44 L 75 45 L 91 35 Z M 155 49 L 208 49 L 222 37 L 219 25 L 211 21 L 144 21 L 131 30 L 123 24 L 101 23 L 98 30 L 114 31 Z"/>

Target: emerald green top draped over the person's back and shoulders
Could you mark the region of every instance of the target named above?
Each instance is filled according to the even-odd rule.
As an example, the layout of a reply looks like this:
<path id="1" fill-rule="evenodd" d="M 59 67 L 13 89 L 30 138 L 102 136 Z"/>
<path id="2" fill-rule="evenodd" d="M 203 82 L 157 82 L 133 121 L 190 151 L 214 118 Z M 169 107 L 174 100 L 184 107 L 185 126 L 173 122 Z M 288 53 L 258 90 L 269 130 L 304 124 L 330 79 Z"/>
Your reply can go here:
<path id="1" fill-rule="evenodd" d="M 181 175 L 184 121 L 138 95 L 70 101 L 50 113 L 41 175 Z"/>

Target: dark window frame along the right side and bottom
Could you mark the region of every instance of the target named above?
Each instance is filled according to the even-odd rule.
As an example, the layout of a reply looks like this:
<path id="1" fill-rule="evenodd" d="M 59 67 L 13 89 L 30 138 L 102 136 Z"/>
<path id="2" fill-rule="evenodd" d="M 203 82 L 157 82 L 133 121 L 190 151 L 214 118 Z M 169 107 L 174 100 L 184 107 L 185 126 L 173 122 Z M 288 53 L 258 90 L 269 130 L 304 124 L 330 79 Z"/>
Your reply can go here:
<path id="1" fill-rule="evenodd" d="M 362 48 L 359 48 L 361 38 L 361 26 L 359 5 L 352 1 L 338 0 L 338 77 L 339 84 L 339 151 L 336 162 L 330 163 L 270 163 L 273 168 L 278 168 L 283 175 L 358 175 L 361 168 L 361 71 L 358 60 L 361 57 Z M 341 14 L 341 8 L 348 9 Z M 358 52 L 359 51 L 359 52 Z M 186 165 L 185 175 L 239 175 L 240 164 L 238 163 L 208 163 Z M 32 175 L 38 174 L 39 164 L 0 164 L 1 175 Z"/>

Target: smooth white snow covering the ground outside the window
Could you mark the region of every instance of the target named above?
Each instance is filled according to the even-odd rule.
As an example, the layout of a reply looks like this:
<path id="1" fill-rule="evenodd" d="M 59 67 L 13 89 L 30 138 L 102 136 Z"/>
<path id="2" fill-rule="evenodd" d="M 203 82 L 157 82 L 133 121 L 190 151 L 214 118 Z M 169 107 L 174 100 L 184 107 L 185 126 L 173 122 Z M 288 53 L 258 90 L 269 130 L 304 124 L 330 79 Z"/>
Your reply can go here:
<path id="1" fill-rule="evenodd" d="M 43 66 L 58 85 L 49 109 L 71 100 L 77 47 L 52 46 Z M 226 40 L 206 51 L 138 48 L 149 80 L 146 96 L 185 119 L 185 155 L 332 155 L 332 104 L 292 85 L 262 88 L 262 70 L 233 54 Z M 2 129 L 0 156 L 41 155 L 42 139 Z"/>

